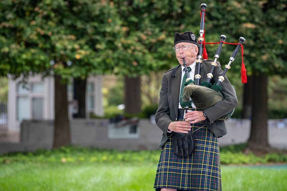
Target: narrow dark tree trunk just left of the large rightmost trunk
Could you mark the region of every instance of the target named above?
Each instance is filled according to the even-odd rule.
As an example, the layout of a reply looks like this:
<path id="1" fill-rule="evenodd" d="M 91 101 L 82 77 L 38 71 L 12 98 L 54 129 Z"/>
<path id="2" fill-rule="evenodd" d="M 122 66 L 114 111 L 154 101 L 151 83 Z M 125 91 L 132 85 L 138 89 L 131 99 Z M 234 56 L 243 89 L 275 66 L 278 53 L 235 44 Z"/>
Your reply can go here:
<path id="1" fill-rule="evenodd" d="M 242 119 L 251 119 L 252 114 L 253 77 L 247 76 L 247 81 L 248 83 L 244 84 Z"/>

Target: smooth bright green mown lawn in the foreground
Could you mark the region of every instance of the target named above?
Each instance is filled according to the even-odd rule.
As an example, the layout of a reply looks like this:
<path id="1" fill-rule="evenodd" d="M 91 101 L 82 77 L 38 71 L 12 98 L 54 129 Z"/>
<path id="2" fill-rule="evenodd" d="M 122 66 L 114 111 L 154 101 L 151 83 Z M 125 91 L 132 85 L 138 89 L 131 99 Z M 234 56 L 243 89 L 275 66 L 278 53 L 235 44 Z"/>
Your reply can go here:
<path id="1" fill-rule="evenodd" d="M 155 162 L 0 164 L 0 190 L 154 190 Z M 223 191 L 286 191 L 287 165 L 223 166 Z"/>

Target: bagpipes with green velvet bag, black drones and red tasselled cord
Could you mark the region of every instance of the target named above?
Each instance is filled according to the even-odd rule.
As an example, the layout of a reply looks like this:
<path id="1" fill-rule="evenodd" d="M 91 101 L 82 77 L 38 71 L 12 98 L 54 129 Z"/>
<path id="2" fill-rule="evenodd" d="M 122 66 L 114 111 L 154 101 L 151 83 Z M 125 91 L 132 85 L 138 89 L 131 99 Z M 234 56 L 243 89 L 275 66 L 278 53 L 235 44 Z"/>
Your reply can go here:
<path id="1" fill-rule="evenodd" d="M 201 4 L 201 22 L 200 22 L 200 28 L 199 28 L 200 37 L 198 38 L 198 41 L 199 41 L 198 50 L 199 51 L 198 51 L 198 56 L 196 60 L 197 73 L 195 75 L 195 84 L 194 84 L 194 81 L 191 78 L 189 78 L 189 75 L 188 75 L 186 83 L 184 84 L 185 88 L 183 89 L 182 102 L 180 103 L 181 107 L 183 108 L 189 108 L 191 107 L 191 104 L 193 103 L 198 110 L 204 110 L 204 109 L 207 109 L 213 106 L 218 101 L 221 101 L 223 99 L 223 95 L 220 92 L 220 90 L 222 90 L 221 83 L 224 80 L 224 76 L 227 70 L 230 69 L 230 64 L 231 62 L 234 61 L 239 48 L 241 48 L 241 57 L 242 57 L 242 63 L 241 63 L 242 83 L 247 82 L 246 70 L 245 70 L 245 66 L 243 63 L 243 46 L 242 46 L 242 43 L 245 42 L 245 38 L 240 37 L 238 43 L 227 43 L 227 42 L 224 42 L 224 40 L 226 40 L 226 36 L 221 35 L 219 42 L 205 43 L 204 23 L 205 23 L 206 7 L 207 6 L 205 3 Z M 214 56 L 214 62 L 211 62 L 212 67 L 210 69 L 210 72 L 207 74 L 206 81 L 201 82 L 201 84 L 199 84 L 199 80 L 201 78 L 201 76 L 199 75 L 199 72 L 200 72 L 200 64 L 202 64 L 202 60 L 201 60 L 202 55 L 203 55 L 203 59 L 207 59 L 205 44 L 219 44 L 219 46 Z M 214 71 L 214 68 L 217 66 L 216 61 L 220 56 L 222 44 L 233 44 L 237 46 L 229 58 L 229 63 L 225 65 L 224 71 L 222 72 L 221 76 L 219 76 L 218 81 L 215 84 L 211 84 L 210 81 L 213 77 L 212 73 Z M 184 58 L 183 58 L 183 65 L 185 67 L 186 74 L 188 74 Z M 234 109 L 230 111 L 228 114 L 220 117 L 220 119 L 221 120 L 228 119 L 232 115 L 233 112 L 234 112 Z"/>

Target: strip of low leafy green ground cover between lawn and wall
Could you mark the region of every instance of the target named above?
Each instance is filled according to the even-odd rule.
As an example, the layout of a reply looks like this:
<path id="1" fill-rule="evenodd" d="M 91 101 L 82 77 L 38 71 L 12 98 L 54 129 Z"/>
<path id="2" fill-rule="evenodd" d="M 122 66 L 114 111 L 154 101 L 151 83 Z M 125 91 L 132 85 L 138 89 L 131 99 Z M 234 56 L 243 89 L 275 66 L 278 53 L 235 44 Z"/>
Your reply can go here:
<path id="1" fill-rule="evenodd" d="M 243 150 L 246 144 L 231 145 L 220 148 L 221 164 L 265 164 L 267 162 L 287 162 L 286 154 L 268 153 L 258 157 L 253 153 L 245 155 Z M 87 147 L 60 147 L 59 149 L 38 149 L 36 152 L 13 152 L 0 155 L 0 163 L 10 164 L 14 162 L 152 162 L 157 163 L 160 150 L 144 151 L 116 151 L 107 149 L 94 149 Z"/>

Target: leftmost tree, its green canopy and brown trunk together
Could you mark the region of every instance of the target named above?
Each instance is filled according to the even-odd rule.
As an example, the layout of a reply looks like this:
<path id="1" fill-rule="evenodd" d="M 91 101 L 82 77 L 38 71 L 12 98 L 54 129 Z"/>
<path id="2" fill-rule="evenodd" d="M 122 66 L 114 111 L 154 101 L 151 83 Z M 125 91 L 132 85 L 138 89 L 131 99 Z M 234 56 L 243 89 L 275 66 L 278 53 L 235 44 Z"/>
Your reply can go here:
<path id="1" fill-rule="evenodd" d="M 113 42 L 121 30 L 113 5 L 88 0 L 4 1 L 0 9 L 0 75 L 54 76 L 54 147 L 69 145 L 67 81 L 113 68 Z"/>

